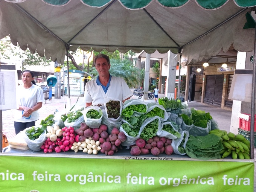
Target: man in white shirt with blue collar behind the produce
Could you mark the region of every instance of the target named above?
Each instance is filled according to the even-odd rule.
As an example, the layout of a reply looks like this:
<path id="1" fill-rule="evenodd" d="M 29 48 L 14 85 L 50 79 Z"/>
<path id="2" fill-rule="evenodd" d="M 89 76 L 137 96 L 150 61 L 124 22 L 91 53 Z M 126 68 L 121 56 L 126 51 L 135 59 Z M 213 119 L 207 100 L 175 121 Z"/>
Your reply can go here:
<path id="1" fill-rule="evenodd" d="M 94 58 L 94 65 L 99 76 L 85 85 L 85 107 L 103 105 L 105 98 L 114 98 L 125 102 L 133 96 L 124 79 L 110 75 L 110 59 L 107 55 L 97 55 Z"/>

